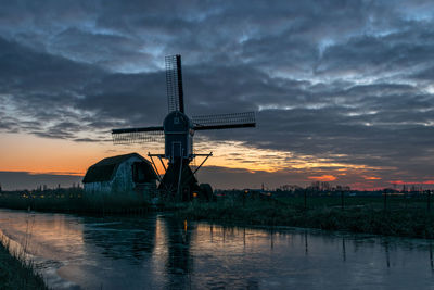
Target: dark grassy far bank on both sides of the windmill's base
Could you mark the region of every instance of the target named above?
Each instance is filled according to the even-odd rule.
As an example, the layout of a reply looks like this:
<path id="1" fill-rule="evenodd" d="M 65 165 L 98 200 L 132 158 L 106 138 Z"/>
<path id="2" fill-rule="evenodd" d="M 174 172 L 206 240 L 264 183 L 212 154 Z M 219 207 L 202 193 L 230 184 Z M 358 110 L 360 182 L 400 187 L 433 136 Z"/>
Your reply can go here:
<path id="1" fill-rule="evenodd" d="M 278 197 L 233 194 L 216 202 L 165 202 L 180 218 L 224 223 L 310 227 L 434 239 L 430 197 Z M 150 210 L 135 192 L 85 194 L 82 189 L 0 194 L 0 207 L 50 212 L 135 214 Z"/>

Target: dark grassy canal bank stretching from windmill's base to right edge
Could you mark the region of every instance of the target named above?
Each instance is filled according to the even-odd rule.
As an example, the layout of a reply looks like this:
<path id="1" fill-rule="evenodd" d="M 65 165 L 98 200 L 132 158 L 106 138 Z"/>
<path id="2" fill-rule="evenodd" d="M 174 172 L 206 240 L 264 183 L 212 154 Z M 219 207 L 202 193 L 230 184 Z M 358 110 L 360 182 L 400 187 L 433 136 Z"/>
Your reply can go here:
<path id="1" fill-rule="evenodd" d="M 224 223 L 309 227 L 386 236 L 434 238 L 434 214 L 420 209 L 384 210 L 378 206 L 314 206 L 304 209 L 273 200 L 191 203 L 176 213 L 180 218 Z"/>

